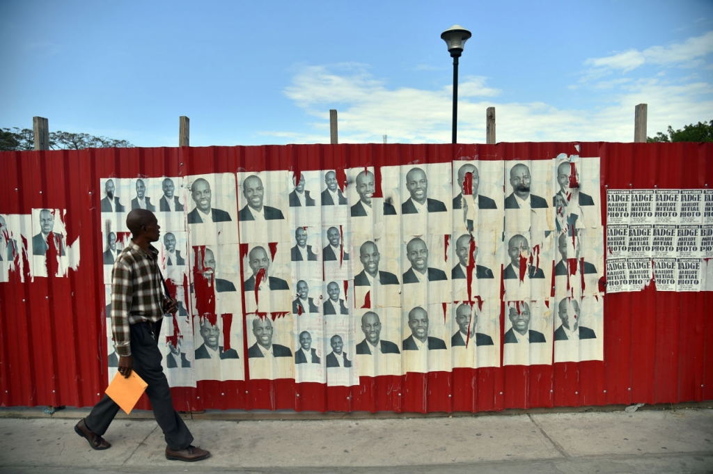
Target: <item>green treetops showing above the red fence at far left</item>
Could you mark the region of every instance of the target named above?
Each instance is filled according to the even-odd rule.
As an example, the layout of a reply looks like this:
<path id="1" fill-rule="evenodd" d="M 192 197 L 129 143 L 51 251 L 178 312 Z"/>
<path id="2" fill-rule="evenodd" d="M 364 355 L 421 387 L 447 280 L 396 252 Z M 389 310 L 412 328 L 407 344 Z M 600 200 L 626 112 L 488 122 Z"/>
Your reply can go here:
<path id="1" fill-rule="evenodd" d="M 88 133 L 50 132 L 50 150 L 83 150 L 84 148 L 131 148 L 127 140 L 96 137 Z M 0 151 L 34 150 L 34 133 L 29 128 L 0 128 Z"/>

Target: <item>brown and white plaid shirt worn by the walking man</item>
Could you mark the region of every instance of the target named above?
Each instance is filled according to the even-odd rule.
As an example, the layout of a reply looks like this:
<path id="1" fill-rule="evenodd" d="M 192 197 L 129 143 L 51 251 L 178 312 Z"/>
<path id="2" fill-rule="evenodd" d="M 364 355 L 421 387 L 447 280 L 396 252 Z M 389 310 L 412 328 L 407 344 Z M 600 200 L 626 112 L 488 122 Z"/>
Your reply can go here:
<path id="1" fill-rule="evenodd" d="M 145 252 L 133 242 L 116 258 L 111 272 L 111 331 L 116 354 L 130 354 L 130 324 L 163 318 L 163 284 L 158 250 Z"/>

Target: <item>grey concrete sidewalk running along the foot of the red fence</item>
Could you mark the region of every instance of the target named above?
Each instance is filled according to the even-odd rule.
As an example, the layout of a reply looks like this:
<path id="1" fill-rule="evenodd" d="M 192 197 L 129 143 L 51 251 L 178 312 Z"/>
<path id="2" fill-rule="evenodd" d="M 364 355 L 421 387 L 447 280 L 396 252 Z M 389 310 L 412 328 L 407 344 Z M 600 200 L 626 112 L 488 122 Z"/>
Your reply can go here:
<path id="1" fill-rule="evenodd" d="M 41 411 L 41 409 L 40 409 Z M 713 410 L 319 421 L 191 420 L 199 463 L 166 460 L 153 419 L 117 418 L 92 450 L 86 410 L 1 418 L 3 473 L 710 473 Z M 73 417 L 76 415 L 76 418 Z M 210 413 L 220 418 L 220 412 Z"/>

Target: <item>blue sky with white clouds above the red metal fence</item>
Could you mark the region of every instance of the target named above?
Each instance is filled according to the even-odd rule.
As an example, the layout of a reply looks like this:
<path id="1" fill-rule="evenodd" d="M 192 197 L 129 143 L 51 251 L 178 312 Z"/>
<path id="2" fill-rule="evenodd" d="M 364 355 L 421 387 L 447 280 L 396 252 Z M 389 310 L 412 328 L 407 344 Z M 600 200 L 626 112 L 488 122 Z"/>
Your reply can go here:
<path id="1" fill-rule="evenodd" d="M 456 11 L 457 10 L 457 11 Z M 0 127 L 191 145 L 633 140 L 713 119 L 713 1 L 0 0 Z"/>

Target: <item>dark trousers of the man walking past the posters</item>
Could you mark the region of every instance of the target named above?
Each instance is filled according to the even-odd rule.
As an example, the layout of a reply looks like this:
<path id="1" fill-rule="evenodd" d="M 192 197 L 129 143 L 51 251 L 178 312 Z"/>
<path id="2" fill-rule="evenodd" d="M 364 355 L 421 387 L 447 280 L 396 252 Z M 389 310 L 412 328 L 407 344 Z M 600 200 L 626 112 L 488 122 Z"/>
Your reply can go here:
<path id="1" fill-rule="evenodd" d="M 149 323 L 132 324 L 130 329 L 133 370 L 148 383 L 146 395 L 151 402 L 153 416 L 163 431 L 166 444 L 173 450 L 187 448 L 190 443 L 193 443 L 193 436 L 190 434 L 188 426 L 183 423 L 183 419 L 173 409 L 171 391 L 163 373 L 163 367 L 161 367 L 163 356 L 158 350 L 161 321 L 153 324 L 155 339 L 151 335 L 152 327 Z M 119 406 L 108 395 L 104 395 L 104 398 L 92 408 L 89 416 L 84 419 L 84 423 L 91 431 L 103 436 L 119 409 Z"/>

